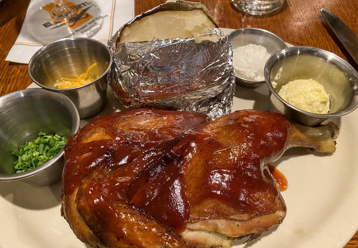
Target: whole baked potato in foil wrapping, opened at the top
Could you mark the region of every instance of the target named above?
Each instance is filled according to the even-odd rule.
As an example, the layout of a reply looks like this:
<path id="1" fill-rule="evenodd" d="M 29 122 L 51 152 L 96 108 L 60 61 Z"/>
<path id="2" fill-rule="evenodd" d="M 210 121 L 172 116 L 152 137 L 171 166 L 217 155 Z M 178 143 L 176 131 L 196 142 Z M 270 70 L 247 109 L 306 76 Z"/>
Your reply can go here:
<path id="1" fill-rule="evenodd" d="M 108 46 L 109 84 L 124 106 L 229 113 L 232 48 L 204 5 L 166 2 L 122 26 Z"/>

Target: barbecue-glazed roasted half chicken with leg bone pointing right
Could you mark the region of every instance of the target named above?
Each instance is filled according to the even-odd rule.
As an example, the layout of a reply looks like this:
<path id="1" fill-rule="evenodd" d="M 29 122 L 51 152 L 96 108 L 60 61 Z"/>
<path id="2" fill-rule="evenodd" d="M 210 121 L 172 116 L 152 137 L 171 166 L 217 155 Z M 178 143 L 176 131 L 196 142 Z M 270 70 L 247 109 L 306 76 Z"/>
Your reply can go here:
<path id="1" fill-rule="evenodd" d="M 272 111 L 100 116 L 68 140 L 62 215 L 92 247 L 230 247 L 286 215 L 265 165 L 290 147 L 332 153 L 337 135 Z"/>

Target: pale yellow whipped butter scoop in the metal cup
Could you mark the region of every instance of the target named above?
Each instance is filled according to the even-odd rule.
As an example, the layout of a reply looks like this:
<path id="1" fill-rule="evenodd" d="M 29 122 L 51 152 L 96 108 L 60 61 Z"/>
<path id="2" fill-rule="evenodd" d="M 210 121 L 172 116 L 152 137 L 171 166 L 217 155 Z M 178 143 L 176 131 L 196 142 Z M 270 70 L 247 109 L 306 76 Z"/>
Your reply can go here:
<path id="1" fill-rule="evenodd" d="M 283 85 L 279 95 L 301 110 L 326 114 L 329 111 L 329 94 L 323 85 L 313 79 L 296 79 Z"/>

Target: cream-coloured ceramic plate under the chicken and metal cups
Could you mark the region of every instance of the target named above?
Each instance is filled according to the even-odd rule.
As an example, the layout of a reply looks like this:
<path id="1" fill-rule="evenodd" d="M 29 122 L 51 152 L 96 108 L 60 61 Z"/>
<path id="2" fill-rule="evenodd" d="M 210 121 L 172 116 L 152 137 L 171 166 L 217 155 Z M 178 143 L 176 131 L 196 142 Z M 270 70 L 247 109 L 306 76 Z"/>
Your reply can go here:
<path id="1" fill-rule="evenodd" d="M 266 85 L 237 86 L 232 110 L 266 110 L 268 93 Z M 110 89 L 108 99 L 101 114 L 124 109 Z M 288 209 L 284 222 L 252 242 L 237 240 L 235 247 L 342 248 L 353 237 L 358 229 L 358 110 L 333 121 L 340 128 L 334 154 L 291 148 L 273 163 L 289 182 L 282 192 Z M 1 182 L 0 248 L 86 248 L 60 215 L 60 194 L 61 183 L 40 188 Z"/>

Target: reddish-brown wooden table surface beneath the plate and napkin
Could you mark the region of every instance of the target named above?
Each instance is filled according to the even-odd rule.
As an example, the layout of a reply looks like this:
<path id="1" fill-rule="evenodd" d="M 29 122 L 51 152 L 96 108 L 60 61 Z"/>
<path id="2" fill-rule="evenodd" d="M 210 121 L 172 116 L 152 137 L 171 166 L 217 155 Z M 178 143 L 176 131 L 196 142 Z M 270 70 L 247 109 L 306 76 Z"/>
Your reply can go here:
<path id="1" fill-rule="evenodd" d="M 29 1 L 3 0 L 0 3 L 0 96 L 24 89 L 32 82 L 27 73 L 27 65 L 5 61 L 20 32 Z M 164 2 L 165 0 L 135 0 L 135 14 Z M 266 29 L 292 45 L 314 46 L 331 51 L 358 69 L 320 14 L 321 8 L 332 11 L 358 34 L 357 0 L 286 0 L 278 13 L 265 17 L 243 14 L 236 10 L 229 0 L 202 0 L 202 3 L 222 28 Z M 345 246 L 348 247 L 358 247 L 358 232 Z"/>

